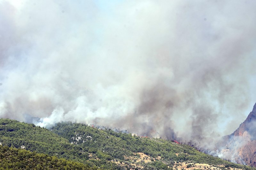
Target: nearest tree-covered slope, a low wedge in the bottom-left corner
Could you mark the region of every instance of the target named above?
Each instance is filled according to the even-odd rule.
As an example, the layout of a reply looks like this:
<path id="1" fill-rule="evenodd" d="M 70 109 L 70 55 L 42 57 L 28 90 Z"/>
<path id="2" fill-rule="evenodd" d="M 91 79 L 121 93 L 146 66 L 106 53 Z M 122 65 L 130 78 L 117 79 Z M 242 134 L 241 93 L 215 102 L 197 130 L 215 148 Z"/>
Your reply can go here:
<path id="1" fill-rule="evenodd" d="M 58 159 L 42 153 L 29 152 L 0 145 L 0 170 L 6 169 L 88 169 L 93 168 L 83 163 Z M 96 169 L 96 168 L 95 168 Z"/>

